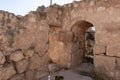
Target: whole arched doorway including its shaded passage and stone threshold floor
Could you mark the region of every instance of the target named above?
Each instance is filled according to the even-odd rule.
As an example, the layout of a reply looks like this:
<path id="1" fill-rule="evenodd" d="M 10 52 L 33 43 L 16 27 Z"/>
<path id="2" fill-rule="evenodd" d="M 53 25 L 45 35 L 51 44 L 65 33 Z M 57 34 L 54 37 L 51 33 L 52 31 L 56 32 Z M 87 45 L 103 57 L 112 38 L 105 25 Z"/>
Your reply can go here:
<path id="1" fill-rule="evenodd" d="M 71 31 L 73 33 L 73 47 L 71 53 L 72 68 L 80 75 L 94 77 L 93 46 L 95 43 L 95 28 L 88 21 L 76 22 Z"/>

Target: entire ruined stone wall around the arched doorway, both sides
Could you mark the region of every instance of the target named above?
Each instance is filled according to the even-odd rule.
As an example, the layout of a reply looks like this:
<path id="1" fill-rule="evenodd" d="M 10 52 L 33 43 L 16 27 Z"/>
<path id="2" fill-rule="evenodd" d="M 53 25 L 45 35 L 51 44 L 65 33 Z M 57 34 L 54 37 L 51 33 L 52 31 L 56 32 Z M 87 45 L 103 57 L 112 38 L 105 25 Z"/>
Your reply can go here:
<path id="1" fill-rule="evenodd" d="M 85 31 L 95 26 L 94 66 L 105 80 L 120 80 L 120 1 L 83 0 L 38 7 L 25 16 L 0 11 L 0 80 L 38 80 L 48 64 L 83 63 Z"/>

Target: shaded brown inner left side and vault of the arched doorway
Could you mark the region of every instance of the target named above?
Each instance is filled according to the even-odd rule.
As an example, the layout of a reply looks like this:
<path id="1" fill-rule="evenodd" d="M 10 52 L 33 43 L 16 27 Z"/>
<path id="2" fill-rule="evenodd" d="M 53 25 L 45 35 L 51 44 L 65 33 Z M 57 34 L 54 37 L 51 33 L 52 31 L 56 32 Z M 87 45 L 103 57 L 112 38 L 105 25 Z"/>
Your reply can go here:
<path id="1" fill-rule="evenodd" d="M 88 42 L 86 40 L 87 39 L 86 37 L 88 37 L 86 36 L 86 32 L 89 30 L 90 27 L 93 27 L 93 26 L 94 25 L 92 23 L 85 20 L 78 21 L 72 26 L 71 28 L 71 31 L 73 33 L 73 41 L 72 41 L 73 47 L 71 52 L 72 67 L 76 67 L 80 65 L 86 62 L 87 61 L 86 59 L 90 58 L 90 56 L 86 54 L 86 49 L 88 47 L 86 45 L 86 42 Z"/>

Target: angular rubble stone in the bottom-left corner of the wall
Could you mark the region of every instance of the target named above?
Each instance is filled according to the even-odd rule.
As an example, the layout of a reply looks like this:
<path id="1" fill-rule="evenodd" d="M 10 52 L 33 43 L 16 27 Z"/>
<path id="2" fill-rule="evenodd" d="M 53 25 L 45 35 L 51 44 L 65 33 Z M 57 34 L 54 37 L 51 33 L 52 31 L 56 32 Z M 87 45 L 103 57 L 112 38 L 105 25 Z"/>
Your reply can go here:
<path id="1" fill-rule="evenodd" d="M 16 73 L 13 65 L 8 65 L 7 67 L 0 68 L 0 80 L 8 80 Z"/>

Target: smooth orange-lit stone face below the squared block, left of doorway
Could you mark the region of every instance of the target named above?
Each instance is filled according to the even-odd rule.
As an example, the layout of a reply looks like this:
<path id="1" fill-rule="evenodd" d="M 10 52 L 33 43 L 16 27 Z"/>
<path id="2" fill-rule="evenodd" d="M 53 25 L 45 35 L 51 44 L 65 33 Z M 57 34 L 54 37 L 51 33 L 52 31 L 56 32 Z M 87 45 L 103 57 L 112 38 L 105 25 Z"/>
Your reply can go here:
<path id="1" fill-rule="evenodd" d="M 71 43 L 55 42 L 50 45 L 49 53 L 53 62 L 60 66 L 67 66 L 70 61 Z"/>

